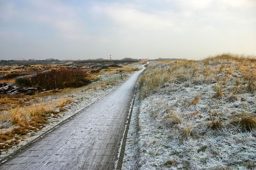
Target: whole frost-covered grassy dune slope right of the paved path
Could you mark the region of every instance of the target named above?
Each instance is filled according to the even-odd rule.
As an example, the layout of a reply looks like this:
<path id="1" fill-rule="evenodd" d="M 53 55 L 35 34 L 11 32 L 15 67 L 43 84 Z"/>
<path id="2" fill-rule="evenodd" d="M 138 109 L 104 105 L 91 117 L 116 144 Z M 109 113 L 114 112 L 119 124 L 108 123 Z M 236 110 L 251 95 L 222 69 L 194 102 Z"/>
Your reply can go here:
<path id="1" fill-rule="evenodd" d="M 256 169 L 256 62 L 151 62 L 122 169 Z"/>

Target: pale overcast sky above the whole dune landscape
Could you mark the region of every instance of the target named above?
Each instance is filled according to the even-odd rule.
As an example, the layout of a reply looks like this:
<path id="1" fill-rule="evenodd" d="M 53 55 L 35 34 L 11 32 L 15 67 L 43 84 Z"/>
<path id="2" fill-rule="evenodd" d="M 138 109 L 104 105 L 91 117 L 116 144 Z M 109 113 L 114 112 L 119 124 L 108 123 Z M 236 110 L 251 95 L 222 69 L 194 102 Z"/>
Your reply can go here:
<path id="1" fill-rule="evenodd" d="M 0 59 L 256 55 L 256 0 L 0 0 Z"/>

